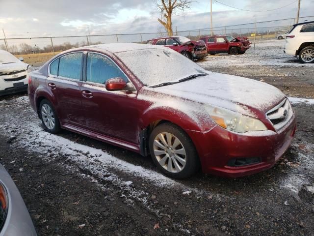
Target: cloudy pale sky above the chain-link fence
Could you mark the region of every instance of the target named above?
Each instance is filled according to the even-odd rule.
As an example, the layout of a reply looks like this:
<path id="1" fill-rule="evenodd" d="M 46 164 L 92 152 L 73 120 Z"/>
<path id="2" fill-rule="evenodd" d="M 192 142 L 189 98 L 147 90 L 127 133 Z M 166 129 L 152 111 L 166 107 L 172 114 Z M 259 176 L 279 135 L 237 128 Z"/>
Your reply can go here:
<path id="1" fill-rule="evenodd" d="M 179 30 L 209 28 L 210 0 L 194 1 L 184 16 L 175 16 Z M 278 8 L 293 0 L 219 0 L 250 10 Z M 314 0 L 301 0 L 300 16 L 314 15 Z M 280 10 L 248 12 L 213 3 L 213 27 L 296 16 L 297 2 Z M 159 13 L 153 0 L 0 0 L 0 28 L 7 37 L 63 36 L 157 32 Z M 314 18 L 312 18 L 314 19 Z M 293 22 L 292 22 L 293 23 Z M 291 24 L 281 22 L 281 25 Z M 0 38 L 3 37 L 0 30 Z"/>

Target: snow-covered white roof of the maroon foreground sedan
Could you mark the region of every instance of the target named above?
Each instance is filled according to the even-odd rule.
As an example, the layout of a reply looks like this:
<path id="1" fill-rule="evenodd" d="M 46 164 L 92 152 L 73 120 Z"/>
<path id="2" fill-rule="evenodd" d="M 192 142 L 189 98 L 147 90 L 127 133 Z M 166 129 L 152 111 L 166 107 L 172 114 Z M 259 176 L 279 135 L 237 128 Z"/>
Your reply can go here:
<path id="1" fill-rule="evenodd" d="M 97 44 L 91 46 L 85 46 L 80 48 L 75 48 L 73 51 L 78 50 L 97 50 L 97 51 L 108 51 L 111 53 L 121 53 L 121 52 L 128 52 L 134 50 L 144 50 L 144 49 L 155 49 L 155 48 L 164 48 L 158 45 L 151 45 L 151 44 L 142 44 L 142 43 L 106 43 L 106 44 Z"/>

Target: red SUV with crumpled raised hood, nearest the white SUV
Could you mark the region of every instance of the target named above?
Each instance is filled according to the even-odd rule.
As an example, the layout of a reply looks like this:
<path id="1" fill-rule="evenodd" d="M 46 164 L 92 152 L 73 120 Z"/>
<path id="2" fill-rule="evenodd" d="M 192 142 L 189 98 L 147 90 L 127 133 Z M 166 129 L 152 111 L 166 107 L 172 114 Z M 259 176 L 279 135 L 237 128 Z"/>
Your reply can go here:
<path id="1" fill-rule="evenodd" d="M 200 40 L 206 43 L 210 55 L 215 55 L 216 53 L 244 54 L 251 47 L 251 42 L 247 37 L 234 38 L 230 35 L 215 35 L 204 36 Z"/>

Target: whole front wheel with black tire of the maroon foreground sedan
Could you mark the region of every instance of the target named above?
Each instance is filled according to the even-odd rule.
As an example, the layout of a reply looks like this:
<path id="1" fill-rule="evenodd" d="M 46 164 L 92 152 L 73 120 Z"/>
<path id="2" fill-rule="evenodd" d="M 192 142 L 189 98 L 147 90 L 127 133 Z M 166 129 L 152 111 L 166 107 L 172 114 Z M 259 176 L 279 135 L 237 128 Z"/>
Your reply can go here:
<path id="1" fill-rule="evenodd" d="M 167 137 L 172 146 L 169 145 Z M 177 146 L 175 147 L 175 145 Z M 175 124 L 158 125 L 150 134 L 149 148 L 157 169 L 169 177 L 187 178 L 200 168 L 200 161 L 193 142 Z M 169 163 L 171 166 L 168 165 Z"/>

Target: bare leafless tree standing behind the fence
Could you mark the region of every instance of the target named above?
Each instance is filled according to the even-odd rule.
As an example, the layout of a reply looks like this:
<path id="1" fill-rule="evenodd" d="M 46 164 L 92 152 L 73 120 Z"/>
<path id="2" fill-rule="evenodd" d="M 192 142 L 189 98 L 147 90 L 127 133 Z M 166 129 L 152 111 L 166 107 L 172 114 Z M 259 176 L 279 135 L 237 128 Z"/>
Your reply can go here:
<path id="1" fill-rule="evenodd" d="M 157 9 L 161 13 L 158 21 L 167 30 L 169 36 L 173 36 L 172 14 L 183 13 L 186 8 L 190 8 L 191 0 L 154 0 Z"/>

